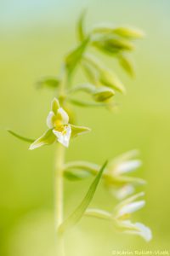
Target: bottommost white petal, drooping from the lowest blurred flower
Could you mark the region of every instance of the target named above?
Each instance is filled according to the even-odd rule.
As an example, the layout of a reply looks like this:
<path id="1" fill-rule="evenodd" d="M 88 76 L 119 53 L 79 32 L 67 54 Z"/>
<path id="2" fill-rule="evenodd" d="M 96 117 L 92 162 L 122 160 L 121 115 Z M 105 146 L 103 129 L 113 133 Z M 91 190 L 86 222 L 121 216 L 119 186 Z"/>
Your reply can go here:
<path id="1" fill-rule="evenodd" d="M 124 230 L 124 233 L 141 236 L 145 241 L 150 241 L 152 239 L 152 232 L 150 228 L 146 227 L 144 224 L 139 222 L 133 224 L 130 221 L 123 221 L 122 224 L 124 227 L 127 226 L 127 229 L 129 229 Z"/>

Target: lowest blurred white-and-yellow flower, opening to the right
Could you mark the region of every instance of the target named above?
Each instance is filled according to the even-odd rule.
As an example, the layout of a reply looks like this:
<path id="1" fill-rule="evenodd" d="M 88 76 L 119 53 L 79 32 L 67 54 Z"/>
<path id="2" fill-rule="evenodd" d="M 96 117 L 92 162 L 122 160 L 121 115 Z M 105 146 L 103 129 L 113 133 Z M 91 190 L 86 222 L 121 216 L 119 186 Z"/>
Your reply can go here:
<path id="1" fill-rule="evenodd" d="M 131 214 L 138 211 L 145 205 L 144 200 L 136 201 L 144 193 L 133 195 L 127 200 L 122 201 L 115 209 L 114 219 L 116 227 L 122 230 L 123 233 L 141 236 L 145 241 L 150 241 L 152 238 L 151 230 L 141 223 L 133 223 L 130 220 Z"/>

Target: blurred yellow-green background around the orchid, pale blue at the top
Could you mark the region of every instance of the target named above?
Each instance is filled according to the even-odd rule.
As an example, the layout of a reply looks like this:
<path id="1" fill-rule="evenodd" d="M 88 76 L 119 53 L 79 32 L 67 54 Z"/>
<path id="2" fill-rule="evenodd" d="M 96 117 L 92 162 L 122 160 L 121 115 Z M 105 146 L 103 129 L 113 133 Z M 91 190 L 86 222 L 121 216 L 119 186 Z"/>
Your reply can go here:
<path id="1" fill-rule="evenodd" d="M 147 180 L 146 207 L 135 216 L 150 226 L 153 240 L 117 234 L 111 225 L 83 218 L 65 237 L 68 255 L 111 255 L 112 250 L 170 249 L 170 2 L 168 0 L 1 0 L 0 1 L 0 255 L 54 255 L 54 146 L 33 152 L 11 137 L 10 128 L 39 137 L 53 91 L 37 90 L 35 82 L 54 75 L 65 52 L 77 42 L 75 26 L 88 8 L 87 27 L 111 21 L 144 30 L 133 54 L 136 77 L 129 79 L 111 62 L 127 86 L 119 110 L 75 108 L 79 125 L 92 132 L 71 142 L 67 160 L 105 159 L 139 148 Z M 74 209 L 92 179 L 65 181 L 65 214 Z M 112 209 L 114 201 L 98 189 L 93 207 Z"/>

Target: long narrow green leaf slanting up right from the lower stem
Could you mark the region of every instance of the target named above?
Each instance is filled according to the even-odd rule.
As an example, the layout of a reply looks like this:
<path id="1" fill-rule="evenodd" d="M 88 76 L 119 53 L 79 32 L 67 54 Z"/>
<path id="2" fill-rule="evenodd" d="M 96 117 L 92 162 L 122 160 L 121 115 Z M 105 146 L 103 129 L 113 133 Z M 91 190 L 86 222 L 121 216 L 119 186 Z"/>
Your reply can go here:
<path id="1" fill-rule="evenodd" d="M 65 232 L 65 230 L 68 230 L 82 218 L 84 212 L 88 208 L 90 202 L 94 198 L 94 193 L 98 187 L 99 180 L 102 177 L 102 174 L 105 170 L 105 166 L 107 165 L 107 161 L 105 164 L 101 167 L 99 170 L 98 175 L 94 178 L 94 182 L 91 184 L 91 186 L 88 189 L 87 195 L 85 195 L 84 199 L 82 200 L 81 204 L 77 207 L 75 212 L 73 212 L 69 218 L 66 218 L 64 223 L 59 226 L 59 232 Z"/>

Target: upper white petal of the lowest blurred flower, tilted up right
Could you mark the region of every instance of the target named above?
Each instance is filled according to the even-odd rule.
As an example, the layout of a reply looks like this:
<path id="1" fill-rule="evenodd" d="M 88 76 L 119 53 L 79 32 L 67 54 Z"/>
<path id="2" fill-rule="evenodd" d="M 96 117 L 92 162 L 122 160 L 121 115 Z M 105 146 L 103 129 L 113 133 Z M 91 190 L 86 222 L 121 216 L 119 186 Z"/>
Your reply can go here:
<path id="1" fill-rule="evenodd" d="M 132 212 L 136 212 L 138 211 L 140 208 L 144 207 L 145 205 L 145 201 L 142 200 L 142 201 L 134 201 L 132 203 L 129 203 L 125 206 L 123 206 L 118 214 L 117 214 L 117 217 L 122 217 L 123 215 L 126 215 L 126 214 L 129 214 L 129 213 L 132 213 Z"/>

